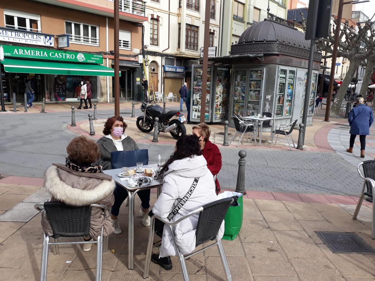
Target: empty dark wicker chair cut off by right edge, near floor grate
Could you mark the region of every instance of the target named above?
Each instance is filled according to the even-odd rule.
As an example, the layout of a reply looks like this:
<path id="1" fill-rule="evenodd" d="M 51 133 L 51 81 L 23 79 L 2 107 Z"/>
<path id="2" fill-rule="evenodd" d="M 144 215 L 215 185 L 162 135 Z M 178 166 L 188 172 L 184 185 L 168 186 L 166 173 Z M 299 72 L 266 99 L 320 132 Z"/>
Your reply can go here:
<path id="1" fill-rule="evenodd" d="M 363 168 L 363 175 L 361 173 L 360 167 Z M 368 160 L 363 161 L 359 163 L 357 167 L 357 171 L 359 173 L 359 176 L 363 179 L 362 184 L 362 192 L 361 196 L 359 197 L 356 211 L 354 211 L 353 214 L 353 220 L 356 220 L 357 215 L 359 213 L 359 210 L 361 208 L 363 198 L 366 196 L 370 197 L 372 200 L 369 200 L 372 202 L 372 239 L 375 239 L 375 200 L 374 200 L 374 193 L 375 193 L 375 161 L 374 160 Z M 366 187 L 366 191 L 365 191 Z M 370 199 L 368 198 L 368 199 Z M 366 199 L 367 200 L 367 199 Z"/>

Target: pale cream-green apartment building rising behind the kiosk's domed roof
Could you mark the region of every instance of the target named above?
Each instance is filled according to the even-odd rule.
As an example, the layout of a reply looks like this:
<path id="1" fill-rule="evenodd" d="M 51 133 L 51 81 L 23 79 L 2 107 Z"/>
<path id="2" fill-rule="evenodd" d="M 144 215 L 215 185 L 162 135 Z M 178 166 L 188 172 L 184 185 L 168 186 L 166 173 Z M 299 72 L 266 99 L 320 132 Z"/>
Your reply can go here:
<path id="1" fill-rule="evenodd" d="M 219 55 L 229 55 L 232 43 L 238 42 L 246 28 L 267 18 L 269 12 L 279 18 L 287 18 L 288 0 L 233 0 L 225 1 L 222 8 L 222 40 Z"/>

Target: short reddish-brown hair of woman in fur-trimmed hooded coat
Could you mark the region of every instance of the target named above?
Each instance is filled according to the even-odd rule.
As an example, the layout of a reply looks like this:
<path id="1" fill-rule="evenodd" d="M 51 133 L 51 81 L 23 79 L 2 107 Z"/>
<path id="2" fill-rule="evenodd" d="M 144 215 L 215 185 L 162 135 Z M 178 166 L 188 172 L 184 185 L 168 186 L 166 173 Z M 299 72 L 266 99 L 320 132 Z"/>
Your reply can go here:
<path id="1" fill-rule="evenodd" d="M 66 152 L 75 164 L 91 165 L 99 160 L 99 145 L 85 136 L 75 137 L 66 146 Z"/>

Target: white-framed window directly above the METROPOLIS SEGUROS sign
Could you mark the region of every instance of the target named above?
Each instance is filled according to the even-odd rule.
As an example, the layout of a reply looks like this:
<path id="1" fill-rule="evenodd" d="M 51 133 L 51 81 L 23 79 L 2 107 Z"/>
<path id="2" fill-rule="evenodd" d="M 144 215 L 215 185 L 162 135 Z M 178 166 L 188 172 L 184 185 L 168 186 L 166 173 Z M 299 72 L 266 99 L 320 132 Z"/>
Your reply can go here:
<path id="1" fill-rule="evenodd" d="M 4 10 L 5 27 L 27 31 L 42 32 L 40 29 L 40 17 L 25 12 Z"/>

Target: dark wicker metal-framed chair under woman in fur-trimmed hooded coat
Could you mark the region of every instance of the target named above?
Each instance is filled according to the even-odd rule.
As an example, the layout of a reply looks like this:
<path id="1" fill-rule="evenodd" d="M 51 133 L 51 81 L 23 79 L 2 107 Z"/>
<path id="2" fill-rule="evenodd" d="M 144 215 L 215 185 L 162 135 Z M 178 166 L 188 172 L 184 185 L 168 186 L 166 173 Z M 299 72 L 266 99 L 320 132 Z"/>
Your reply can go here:
<path id="1" fill-rule="evenodd" d="M 105 244 L 105 251 L 108 247 L 108 237 L 104 239 L 104 226 L 101 229 L 100 235 L 96 241 L 91 239 L 90 242 L 58 242 L 60 237 L 82 237 L 89 236 L 91 208 L 101 208 L 102 211 L 108 211 L 109 208 L 102 204 L 91 204 L 90 206 L 73 207 L 67 206 L 62 202 L 44 202 L 37 203 L 34 208 L 39 211 L 45 211 L 48 217 L 49 224 L 51 225 L 54 235 L 51 237 L 43 233 L 43 250 L 42 262 L 40 264 L 40 281 L 47 280 L 47 264 L 48 264 L 48 246 L 52 245 L 53 253 L 60 254 L 58 245 L 61 244 L 84 244 L 93 243 L 97 244 L 96 250 L 96 274 L 95 281 L 100 281 L 102 278 L 102 255 L 103 243 Z M 54 242 L 49 242 L 49 239 L 54 239 Z"/>

